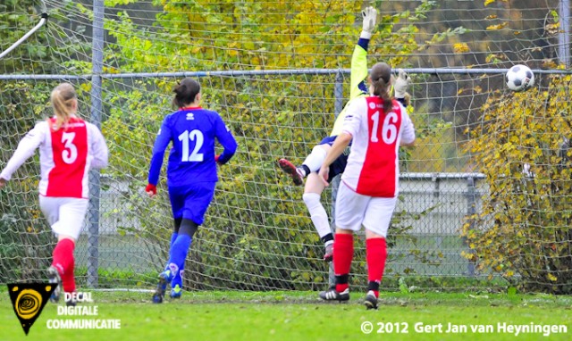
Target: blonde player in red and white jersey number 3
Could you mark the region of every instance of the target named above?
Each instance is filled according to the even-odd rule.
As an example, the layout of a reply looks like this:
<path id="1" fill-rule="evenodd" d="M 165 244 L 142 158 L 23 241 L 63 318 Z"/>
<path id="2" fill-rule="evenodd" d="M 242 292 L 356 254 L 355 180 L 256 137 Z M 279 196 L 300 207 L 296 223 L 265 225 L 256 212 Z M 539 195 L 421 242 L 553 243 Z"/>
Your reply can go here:
<path id="1" fill-rule="evenodd" d="M 75 115 L 78 99 L 71 84 L 55 87 L 51 102 L 55 116 L 21 139 L 0 173 L 0 187 L 39 147 L 39 206 L 58 239 L 47 270 L 50 282 L 58 284 L 50 299 L 58 302 L 62 285 L 66 293 L 76 291 L 73 249 L 88 209 L 88 170 L 105 168 L 108 151 L 99 129 Z"/>

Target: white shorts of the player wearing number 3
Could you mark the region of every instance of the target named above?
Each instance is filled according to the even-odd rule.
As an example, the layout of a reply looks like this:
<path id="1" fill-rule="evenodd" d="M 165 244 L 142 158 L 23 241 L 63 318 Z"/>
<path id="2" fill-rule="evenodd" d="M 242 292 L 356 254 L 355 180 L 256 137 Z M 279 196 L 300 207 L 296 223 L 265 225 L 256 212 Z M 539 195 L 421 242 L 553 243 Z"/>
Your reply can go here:
<path id="1" fill-rule="evenodd" d="M 39 195 L 39 207 L 55 235 L 70 236 L 75 240 L 80 237 L 88 202 L 88 199 Z"/>

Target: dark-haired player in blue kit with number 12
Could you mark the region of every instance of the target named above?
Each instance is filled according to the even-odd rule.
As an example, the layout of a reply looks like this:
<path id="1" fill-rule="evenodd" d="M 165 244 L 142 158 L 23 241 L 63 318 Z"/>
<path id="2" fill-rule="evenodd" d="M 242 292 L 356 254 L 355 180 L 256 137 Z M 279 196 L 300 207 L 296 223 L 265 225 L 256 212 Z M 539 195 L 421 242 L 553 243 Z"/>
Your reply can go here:
<path id="1" fill-rule="evenodd" d="M 201 93 L 197 80 L 182 79 L 173 91 L 173 104 L 179 110 L 164 118 L 157 134 L 145 188 L 149 196 L 156 195 L 164 151 L 172 143 L 167 164 L 167 187 L 174 231 L 169 261 L 159 275 L 154 303 L 163 302 L 169 282 L 171 297 L 181 297 L 182 274 L 192 237 L 203 223 L 218 181 L 216 163 L 223 165 L 228 162 L 237 149 L 236 140 L 218 112 L 199 106 Z M 215 139 L 224 147 L 223 154 L 214 154 Z"/>

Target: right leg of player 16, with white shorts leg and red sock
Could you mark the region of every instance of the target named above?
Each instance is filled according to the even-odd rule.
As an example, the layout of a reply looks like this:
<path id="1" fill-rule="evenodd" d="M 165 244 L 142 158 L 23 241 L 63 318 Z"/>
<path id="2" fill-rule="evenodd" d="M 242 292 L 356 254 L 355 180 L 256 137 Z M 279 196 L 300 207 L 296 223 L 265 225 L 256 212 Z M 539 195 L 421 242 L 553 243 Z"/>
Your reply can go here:
<path id="1" fill-rule="evenodd" d="M 367 309 L 377 309 L 379 286 L 387 260 L 387 230 L 391 215 L 397 203 L 396 198 L 372 198 L 364 216 L 366 228 L 367 294 L 364 304 Z"/>

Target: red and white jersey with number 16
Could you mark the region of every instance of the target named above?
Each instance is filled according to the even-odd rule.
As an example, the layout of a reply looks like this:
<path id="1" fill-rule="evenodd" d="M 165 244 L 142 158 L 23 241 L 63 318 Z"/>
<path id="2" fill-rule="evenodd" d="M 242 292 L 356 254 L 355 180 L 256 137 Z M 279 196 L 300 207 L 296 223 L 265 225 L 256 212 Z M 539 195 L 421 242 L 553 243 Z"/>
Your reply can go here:
<path id="1" fill-rule="evenodd" d="M 368 96 L 353 100 L 342 128 L 352 136 L 348 165 L 341 180 L 360 195 L 398 195 L 400 142 L 415 141 L 415 129 L 398 101 L 383 112 L 383 100 Z"/>

